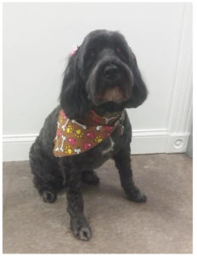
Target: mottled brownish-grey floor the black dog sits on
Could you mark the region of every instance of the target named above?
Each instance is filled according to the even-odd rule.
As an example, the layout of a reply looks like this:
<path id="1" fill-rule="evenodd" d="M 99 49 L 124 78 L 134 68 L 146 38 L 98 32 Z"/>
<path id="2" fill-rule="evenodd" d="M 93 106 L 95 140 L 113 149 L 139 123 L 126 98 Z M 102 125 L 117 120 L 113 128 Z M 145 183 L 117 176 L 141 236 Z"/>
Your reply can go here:
<path id="1" fill-rule="evenodd" d="M 28 161 L 3 163 L 3 253 L 192 253 L 192 160 L 185 154 L 132 156 L 145 204 L 124 198 L 112 160 L 85 186 L 91 241 L 73 238 L 65 195 L 46 204 Z"/>

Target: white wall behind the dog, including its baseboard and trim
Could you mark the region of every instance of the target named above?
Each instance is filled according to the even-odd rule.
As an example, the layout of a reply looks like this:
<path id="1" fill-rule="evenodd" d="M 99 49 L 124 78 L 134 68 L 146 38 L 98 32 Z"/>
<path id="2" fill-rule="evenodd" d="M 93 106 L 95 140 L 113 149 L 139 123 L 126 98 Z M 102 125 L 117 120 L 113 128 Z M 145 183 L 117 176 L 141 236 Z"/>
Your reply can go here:
<path id="1" fill-rule="evenodd" d="M 3 160 L 28 159 L 28 148 L 58 104 L 72 45 L 98 28 L 125 35 L 149 88 L 144 105 L 129 110 L 132 153 L 185 151 L 191 9 L 190 3 L 4 3 Z"/>

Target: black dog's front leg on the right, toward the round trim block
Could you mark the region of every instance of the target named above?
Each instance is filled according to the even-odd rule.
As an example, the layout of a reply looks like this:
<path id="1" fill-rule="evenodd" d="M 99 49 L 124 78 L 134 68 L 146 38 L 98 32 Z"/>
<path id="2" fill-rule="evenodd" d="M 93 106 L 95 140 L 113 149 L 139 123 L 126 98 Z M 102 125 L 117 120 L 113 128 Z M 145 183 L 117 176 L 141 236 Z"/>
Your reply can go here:
<path id="1" fill-rule="evenodd" d="M 118 154 L 115 154 L 114 160 L 120 174 L 121 186 L 125 190 L 128 200 L 136 202 L 147 201 L 146 195 L 138 189 L 132 179 L 130 146 L 123 148 Z"/>

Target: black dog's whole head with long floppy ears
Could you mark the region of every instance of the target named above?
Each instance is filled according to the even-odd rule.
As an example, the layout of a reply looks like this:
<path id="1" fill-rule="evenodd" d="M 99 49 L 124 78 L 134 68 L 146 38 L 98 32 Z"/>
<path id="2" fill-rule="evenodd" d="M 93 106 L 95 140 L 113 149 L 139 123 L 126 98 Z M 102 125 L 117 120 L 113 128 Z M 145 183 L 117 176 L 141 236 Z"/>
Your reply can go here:
<path id="1" fill-rule="evenodd" d="M 84 38 L 65 69 L 60 104 L 70 118 L 91 108 L 137 108 L 147 89 L 132 49 L 119 32 L 96 30 Z"/>

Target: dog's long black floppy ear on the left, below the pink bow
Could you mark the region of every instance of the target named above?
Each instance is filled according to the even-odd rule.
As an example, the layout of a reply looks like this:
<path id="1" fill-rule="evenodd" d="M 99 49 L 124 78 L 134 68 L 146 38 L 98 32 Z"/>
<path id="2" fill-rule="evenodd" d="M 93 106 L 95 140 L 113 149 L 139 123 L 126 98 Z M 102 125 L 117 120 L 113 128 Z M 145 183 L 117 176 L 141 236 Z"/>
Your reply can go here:
<path id="1" fill-rule="evenodd" d="M 60 106 L 70 119 L 82 118 L 89 109 L 85 84 L 77 67 L 78 59 L 77 50 L 70 56 L 59 96 Z"/>

